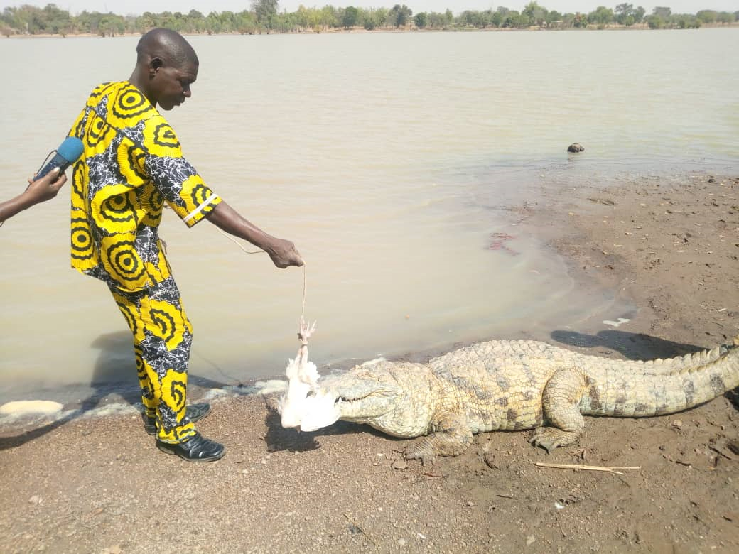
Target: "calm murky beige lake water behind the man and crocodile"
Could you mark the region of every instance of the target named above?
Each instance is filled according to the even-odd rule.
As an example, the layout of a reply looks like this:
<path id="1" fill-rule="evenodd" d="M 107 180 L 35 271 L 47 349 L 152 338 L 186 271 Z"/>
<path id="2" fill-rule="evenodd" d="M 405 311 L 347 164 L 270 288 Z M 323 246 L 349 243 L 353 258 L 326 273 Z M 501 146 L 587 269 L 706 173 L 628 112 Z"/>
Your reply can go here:
<path id="1" fill-rule="evenodd" d="M 168 120 L 215 191 L 296 242 L 322 371 L 627 315 L 615 291 L 573 283 L 507 208 L 542 183 L 739 168 L 736 30 L 189 40 L 200 75 Z M 129 77 L 136 42 L 0 40 L 3 199 L 97 83 Z M 573 142 L 586 151 L 568 157 Z M 0 229 L 0 402 L 135 383 L 106 287 L 69 269 L 68 205 L 65 188 Z M 282 375 L 303 270 L 171 212 L 161 234 L 194 325 L 191 375 Z"/>

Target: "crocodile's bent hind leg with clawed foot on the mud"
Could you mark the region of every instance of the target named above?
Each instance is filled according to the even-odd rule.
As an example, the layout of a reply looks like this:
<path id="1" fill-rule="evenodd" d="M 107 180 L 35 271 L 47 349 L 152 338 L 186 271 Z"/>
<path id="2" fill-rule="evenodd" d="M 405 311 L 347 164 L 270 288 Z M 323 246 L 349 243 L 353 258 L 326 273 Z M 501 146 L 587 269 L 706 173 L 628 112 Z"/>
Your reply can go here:
<path id="1" fill-rule="evenodd" d="M 578 440 L 585 427 L 579 408 L 583 391 L 585 380 L 582 374 L 572 369 L 555 372 L 542 393 L 544 417 L 551 427 L 537 428 L 529 442 L 551 452 L 553 448 L 571 445 Z"/>

